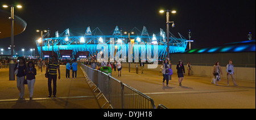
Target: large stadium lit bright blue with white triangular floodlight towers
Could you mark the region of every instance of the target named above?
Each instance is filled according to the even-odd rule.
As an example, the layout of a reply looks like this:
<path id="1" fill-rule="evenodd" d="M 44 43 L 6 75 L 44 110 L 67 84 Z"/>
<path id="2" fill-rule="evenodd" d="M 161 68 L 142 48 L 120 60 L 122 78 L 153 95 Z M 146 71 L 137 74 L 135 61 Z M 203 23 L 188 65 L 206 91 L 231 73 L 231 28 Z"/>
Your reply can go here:
<path id="1" fill-rule="evenodd" d="M 134 45 L 134 51 L 135 49 L 139 49 L 139 57 L 141 57 L 142 48 L 136 46 L 141 46 L 140 44 L 143 42 L 144 44 L 157 44 L 158 58 L 166 58 L 167 37 L 166 32 L 164 32 L 163 29 L 160 28 L 159 33 L 153 33 L 152 35 L 148 35 L 146 27 L 143 27 L 142 31 L 139 31 L 139 29 L 135 27 L 129 32 L 130 39 L 134 39 L 134 42 L 136 43 Z M 44 36 L 47 36 L 47 34 Z M 129 42 L 128 33 L 125 33 L 124 31 L 121 32 L 118 26 L 115 27 L 112 35 L 104 35 L 98 27 L 93 29 L 93 31 L 91 31 L 90 27 L 87 27 L 85 33 L 82 36 L 73 35 L 75 35 L 75 33 L 72 33 L 72 31 L 66 29 L 61 34 L 56 31 L 55 37 L 43 37 L 43 51 L 52 51 L 53 44 L 53 51 L 57 53 L 59 58 L 61 58 L 59 50 L 73 50 L 74 56 L 77 54 L 77 52 L 89 52 L 89 55 L 94 55 L 100 52 L 100 49 L 97 49 L 97 45 L 101 42 L 106 43 L 108 46 L 110 44 L 110 40 L 114 40 L 114 44 L 119 44 L 118 42 L 121 41 L 122 46 L 128 46 L 127 43 Z M 182 35 L 180 35 L 180 33 L 180 38 L 175 37 L 172 35 L 172 33 L 170 33 L 170 35 L 170 53 L 185 52 L 187 47 L 187 40 Z M 40 53 L 40 43 L 38 40 L 36 41 L 36 45 Z M 126 52 L 128 52 L 128 50 L 126 50 Z"/>

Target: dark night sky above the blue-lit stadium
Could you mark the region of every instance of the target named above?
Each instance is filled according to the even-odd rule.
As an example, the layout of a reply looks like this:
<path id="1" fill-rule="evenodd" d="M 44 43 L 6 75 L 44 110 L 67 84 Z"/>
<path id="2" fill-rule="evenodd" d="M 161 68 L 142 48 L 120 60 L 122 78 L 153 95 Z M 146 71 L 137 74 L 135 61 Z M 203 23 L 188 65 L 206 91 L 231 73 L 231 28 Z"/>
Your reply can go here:
<path id="1" fill-rule="evenodd" d="M 15 50 L 30 55 L 30 48 L 36 48 L 35 40 L 40 37 L 36 29 L 50 29 L 51 37 L 55 31 L 62 33 L 69 28 L 85 33 L 86 27 L 91 30 L 98 27 L 104 35 L 112 35 L 116 25 L 123 31 L 137 27 L 142 31 L 147 27 L 149 35 L 159 33 L 160 28 L 166 31 L 166 13 L 159 10 L 176 10 L 170 14 L 170 21 L 175 28 L 170 32 L 179 37 L 177 32 L 188 39 L 188 30 L 192 32 L 193 48 L 216 46 L 229 42 L 245 41 L 251 32 L 255 39 L 255 0 L 156 0 L 156 1 L 39 1 L 39 0 L 1 0 L 2 5 L 22 5 L 15 8 L 15 15 L 27 22 L 26 30 L 14 36 Z M 10 37 L 0 39 L 0 48 L 5 54 L 10 45 Z M 187 47 L 188 48 L 188 47 Z M 38 54 L 36 50 L 36 54 Z"/>

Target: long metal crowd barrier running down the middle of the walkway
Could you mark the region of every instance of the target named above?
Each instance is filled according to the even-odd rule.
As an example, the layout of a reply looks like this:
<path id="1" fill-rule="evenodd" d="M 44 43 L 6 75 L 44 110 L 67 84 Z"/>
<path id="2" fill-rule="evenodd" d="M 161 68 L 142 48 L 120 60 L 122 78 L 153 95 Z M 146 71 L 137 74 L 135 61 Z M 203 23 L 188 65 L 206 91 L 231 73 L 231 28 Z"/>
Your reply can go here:
<path id="1" fill-rule="evenodd" d="M 154 100 L 129 85 L 84 64 L 81 69 L 89 86 L 96 86 L 93 91 L 100 91 L 96 97 L 105 97 L 106 103 L 101 108 L 109 103 L 108 108 L 114 109 L 156 109 Z M 166 107 L 159 105 L 158 108 Z"/>

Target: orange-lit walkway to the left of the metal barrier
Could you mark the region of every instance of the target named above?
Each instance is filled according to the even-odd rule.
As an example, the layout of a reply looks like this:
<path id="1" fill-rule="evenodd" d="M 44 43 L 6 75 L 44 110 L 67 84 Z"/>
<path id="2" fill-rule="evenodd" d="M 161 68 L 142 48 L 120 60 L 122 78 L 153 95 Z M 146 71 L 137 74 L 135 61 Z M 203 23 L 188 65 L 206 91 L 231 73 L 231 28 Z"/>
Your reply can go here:
<path id="1" fill-rule="evenodd" d="M 0 71 L 0 109 L 11 108 L 45 108 L 45 109 L 98 109 L 100 105 L 92 90 L 85 81 L 80 67 L 77 70 L 77 79 L 65 78 L 65 66 L 60 66 L 61 79 L 57 80 L 57 97 L 48 97 L 48 80 L 44 77 L 45 70 L 37 69 L 34 96 L 29 100 L 29 92 L 25 85 L 25 96 L 19 100 L 19 91 L 16 80 L 9 81 L 9 69 Z M 72 73 L 72 72 L 71 72 Z M 71 74 L 72 76 L 72 74 Z"/>

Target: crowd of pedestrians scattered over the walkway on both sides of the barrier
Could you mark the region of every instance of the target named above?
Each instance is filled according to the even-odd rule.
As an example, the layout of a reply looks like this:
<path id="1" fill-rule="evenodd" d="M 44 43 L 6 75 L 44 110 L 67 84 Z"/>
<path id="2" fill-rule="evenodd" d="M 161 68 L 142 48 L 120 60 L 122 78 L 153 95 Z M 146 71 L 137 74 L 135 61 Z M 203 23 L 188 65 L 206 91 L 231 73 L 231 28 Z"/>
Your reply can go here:
<path id="1" fill-rule="evenodd" d="M 72 79 L 77 78 L 77 62 L 75 61 L 65 61 L 65 68 L 66 68 L 66 79 L 70 79 L 70 71 L 72 70 Z M 114 71 L 118 71 L 118 76 L 121 76 L 122 72 L 122 63 L 121 62 L 97 62 L 96 60 L 92 59 L 92 61 L 84 61 L 83 62 L 86 66 L 90 66 L 94 69 L 100 70 L 101 67 L 108 66 L 114 69 Z M 0 63 L 2 65 L 2 62 Z M 19 97 L 24 97 L 24 84 L 28 85 L 28 91 L 30 93 L 30 100 L 32 99 L 33 92 L 34 92 L 34 84 L 36 79 L 36 66 L 38 68 L 46 67 L 46 74 L 45 77 L 48 79 L 48 97 L 56 97 L 56 82 L 57 78 L 60 79 L 60 62 L 57 61 L 57 58 L 53 55 L 51 57 L 51 61 L 28 61 L 26 63 L 24 58 L 19 58 L 19 62 L 17 61 L 15 64 L 15 74 L 16 74 L 16 83 L 17 88 L 19 90 Z M 141 68 L 141 74 L 144 74 L 143 68 L 144 63 L 136 63 L 136 74 L 138 74 L 139 67 Z M 187 71 L 188 75 L 190 74 L 190 71 L 192 69 L 191 64 L 187 63 Z M 179 78 L 179 85 L 181 86 L 181 83 L 184 79 L 185 74 L 185 67 L 183 65 L 183 61 L 179 60 L 178 64 L 176 65 L 177 70 L 177 78 Z M 166 82 L 166 85 L 168 86 L 169 80 L 171 80 L 172 76 L 172 63 L 168 59 L 165 59 L 162 63 L 162 67 L 160 67 L 160 72 L 163 74 L 163 85 Z M 229 78 L 231 77 L 234 83 L 234 86 L 237 85 L 236 80 L 234 79 L 234 66 L 232 64 L 232 60 L 229 60 L 228 65 L 226 65 L 226 72 L 227 72 L 227 84 L 229 85 Z M 57 74 L 59 75 L 57 77 Z M 213 79 L 212 84 L 218 85 L 218 82 L 220 82 L 220 78 L 222 76 L 221 66 L 219 62 L 216 62 L 213 66 L 212 70 Z M 53 83 L 53 91 L 52 91 L 52 83 Z"/>

